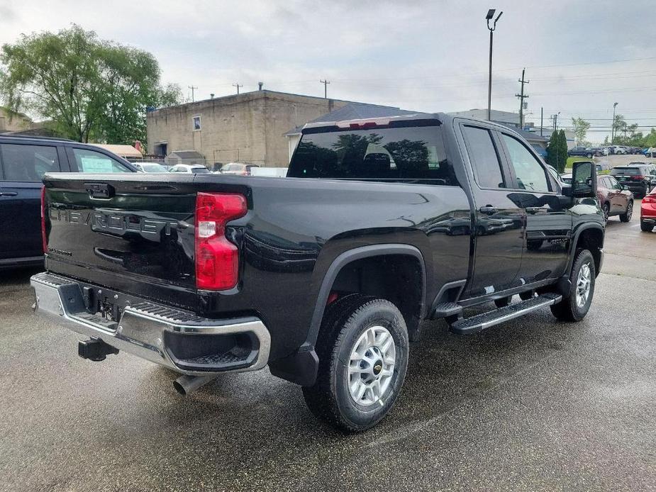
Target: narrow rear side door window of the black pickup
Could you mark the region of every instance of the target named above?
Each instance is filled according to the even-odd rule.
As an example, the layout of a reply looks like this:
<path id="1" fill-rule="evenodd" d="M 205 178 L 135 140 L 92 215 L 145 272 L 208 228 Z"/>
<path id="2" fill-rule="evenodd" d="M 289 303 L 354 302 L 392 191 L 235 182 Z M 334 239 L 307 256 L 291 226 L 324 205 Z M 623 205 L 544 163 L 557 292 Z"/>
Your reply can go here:
<path id="1" fill-rule="evenodd" d="M 462 130 L 478 185 L 481 188 L 506 188 L 501 160 L 489 130 L 476 126 L 464 126 Z"/>

